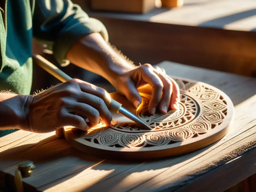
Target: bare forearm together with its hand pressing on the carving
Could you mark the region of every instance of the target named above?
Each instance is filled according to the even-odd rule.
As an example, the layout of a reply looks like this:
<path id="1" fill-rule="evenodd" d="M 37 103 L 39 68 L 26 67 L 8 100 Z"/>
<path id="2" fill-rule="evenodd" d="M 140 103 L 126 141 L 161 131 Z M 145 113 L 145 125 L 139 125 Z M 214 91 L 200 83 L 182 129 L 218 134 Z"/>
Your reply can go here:
<path id="1" fill-rule="evenodd" d="M 130 65 L 120 51 L 109 46 L 98 33 L 86 35 L 76 41 L 69 49 L 67 59 L 107 79 L 136 108 L 142 102 L 137 88 L 148 83 L 153 88 L 149 103 L 151 114 L 155 113 L 157 107 L 163 113 L 167 112 L 169 106 L 173 110 L 178 109 L 178 85 L 164 70 L 149 64 L 140 67 Z"/>

